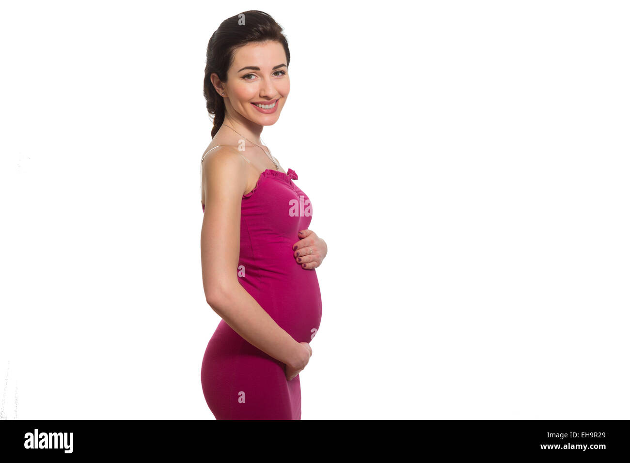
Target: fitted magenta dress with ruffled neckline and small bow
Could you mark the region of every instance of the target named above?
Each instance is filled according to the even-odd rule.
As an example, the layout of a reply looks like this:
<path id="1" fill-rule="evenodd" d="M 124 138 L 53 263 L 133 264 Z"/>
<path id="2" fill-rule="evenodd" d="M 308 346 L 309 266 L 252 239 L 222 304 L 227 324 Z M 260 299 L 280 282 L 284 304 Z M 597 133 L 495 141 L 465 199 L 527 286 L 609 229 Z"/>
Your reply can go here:
<path id="1" fill-rule="evenodd" d="M 315 269 L 302 268 L 292 246 L 311 223 L 306 193 L 287 173 L 266 169 L 241 200 L 238 280 L 295 341 L 310 342 L 321 321 Z M 205 212 L 205 206 L 203 206 Z M 300 376 L 248 343 L 221 320 L 203 355 L 203 396 L 217 420 L 300 420 Z"/>

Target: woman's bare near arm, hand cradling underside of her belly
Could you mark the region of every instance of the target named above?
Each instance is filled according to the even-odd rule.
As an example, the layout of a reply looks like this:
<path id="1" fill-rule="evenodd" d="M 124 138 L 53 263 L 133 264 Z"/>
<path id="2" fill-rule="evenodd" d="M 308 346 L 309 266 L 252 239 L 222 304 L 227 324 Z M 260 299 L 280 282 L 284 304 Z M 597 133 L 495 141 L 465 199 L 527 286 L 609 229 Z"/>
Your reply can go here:
<path id="1" fill-rule="evenodd" d="M 309 352 L 238 282 L 241 199 L 247 181 L 243 174 L 246 161 L 235 153 L 238 151 L 231 147 L 221 147 L 203 159 L 201 263 L 205 299 L 244 340 L 292 368 L 303 368 Z"/>

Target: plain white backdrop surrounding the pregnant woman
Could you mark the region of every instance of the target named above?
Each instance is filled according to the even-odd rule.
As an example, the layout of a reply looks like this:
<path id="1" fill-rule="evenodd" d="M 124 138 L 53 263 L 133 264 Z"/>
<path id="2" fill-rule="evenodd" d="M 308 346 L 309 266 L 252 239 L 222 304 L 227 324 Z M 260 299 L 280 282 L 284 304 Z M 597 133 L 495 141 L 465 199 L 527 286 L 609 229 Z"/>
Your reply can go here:
<path id="1" fill-rule="evenodd" d="M 302 419 L 629 418 L 614 1 L 4 4 L 3 418 L 213 418 L 203 70 L 252 8 L 292 55 L 262 137 L 329 249 Z"/>

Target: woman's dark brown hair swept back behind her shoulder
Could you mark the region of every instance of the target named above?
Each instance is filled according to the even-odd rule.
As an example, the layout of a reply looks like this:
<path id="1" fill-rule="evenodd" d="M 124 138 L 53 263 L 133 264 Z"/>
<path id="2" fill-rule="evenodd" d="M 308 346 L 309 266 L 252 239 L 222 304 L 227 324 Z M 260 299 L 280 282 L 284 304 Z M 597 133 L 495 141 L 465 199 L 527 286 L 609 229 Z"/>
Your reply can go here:
<path id="1" fill-rule="evenodd" d="M 243 11 L 243 13 L 227 18 L 210 37 L 206 53 L 205 77 L 203 77 L 203 96 L 205 96 L 208 114 L 214 115 L 212 137 L 217 134 L 226 117 L 226 105 L 223 97 L 217 93 L 212 85 L 210 74 L 216 72 L 219 80 L 225 83 L 227 81 L 227 69 L 232 65 L 236 49 L 247 43 L 267 41 L 282 44 L 284 52 L 287 54 L 287 66 L 289 66 L 291 59 L 289 43 L 282 33 L 282 26 L 263 11 Z"/>

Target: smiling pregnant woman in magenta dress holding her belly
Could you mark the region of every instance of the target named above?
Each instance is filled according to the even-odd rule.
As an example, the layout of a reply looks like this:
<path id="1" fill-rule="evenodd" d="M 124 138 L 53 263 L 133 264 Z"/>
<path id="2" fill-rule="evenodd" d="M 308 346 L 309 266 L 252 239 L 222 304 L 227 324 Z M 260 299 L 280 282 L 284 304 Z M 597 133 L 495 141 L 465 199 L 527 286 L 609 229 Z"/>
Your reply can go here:
<path id="1" fill-rule="evenodd" d="M 217 420 L 300 420 L 300 377 L 319 329 L 315 268 L 328 248 L 308 229 L 309 197 L 260 139 L 289 95 L 289 45 L 261 11 L 210 38 L 203 93 L 214 115 L 201 161 L 202 276 L 222 320 L 203 355 Z"/>

